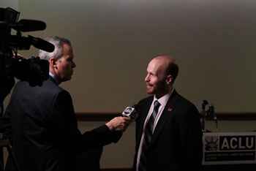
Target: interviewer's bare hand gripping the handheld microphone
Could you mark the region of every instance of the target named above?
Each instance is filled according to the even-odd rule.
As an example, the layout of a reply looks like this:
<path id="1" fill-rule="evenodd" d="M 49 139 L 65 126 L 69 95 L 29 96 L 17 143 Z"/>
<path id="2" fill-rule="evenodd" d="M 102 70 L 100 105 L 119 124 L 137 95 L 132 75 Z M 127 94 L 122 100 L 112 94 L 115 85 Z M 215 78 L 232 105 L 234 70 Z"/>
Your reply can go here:
<path id="1" fill-rule="evenodd" d="M 106 125 L 111 131 L 114 130 L 124 132 L 125 129 L 127 129 L 127 127 L 129 126 L 129 123 L 131 123 L 131 121 L 132 120 L 128 117 L 118 116 L 108 121 Z"/>

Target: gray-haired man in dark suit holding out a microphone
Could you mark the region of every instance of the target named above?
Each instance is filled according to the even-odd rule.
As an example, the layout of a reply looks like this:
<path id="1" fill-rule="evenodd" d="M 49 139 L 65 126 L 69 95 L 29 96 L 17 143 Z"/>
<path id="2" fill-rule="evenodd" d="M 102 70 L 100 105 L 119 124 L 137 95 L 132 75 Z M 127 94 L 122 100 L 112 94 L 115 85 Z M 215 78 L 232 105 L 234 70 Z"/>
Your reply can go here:
<path id="1" fill-rule="evenodd" d="M 116 117 L 81 134 L 72 98 L 59 87 L 71 79 L 75 68 L 72 45 L 60 37 L 47 40 L 55 45 L 55 50 L 53 53 L 40 50 L 39 57 L 49 61 L 49 79 L 42 86 L 17 83 L 5 113 L 10 119 L 12 151 L 20 171 L 75 170 L 79 153 L 90 148 L 100 150 L 103 145 L 117 142 L 129 122 L 128 118 Z M 9 160 L 7 170 L 12 170 L 12 166 Z M 84 165 L 84 170 L 91 168 Z"/>

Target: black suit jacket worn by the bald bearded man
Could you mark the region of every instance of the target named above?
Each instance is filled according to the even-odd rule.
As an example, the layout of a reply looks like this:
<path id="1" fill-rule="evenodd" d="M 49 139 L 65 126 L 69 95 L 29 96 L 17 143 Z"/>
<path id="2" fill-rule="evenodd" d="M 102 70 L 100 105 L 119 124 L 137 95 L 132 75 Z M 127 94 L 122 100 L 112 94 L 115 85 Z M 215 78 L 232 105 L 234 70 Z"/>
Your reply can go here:
<path id="1" fill-rule="evenodd" d="M 138 103 L 136 120 L 136 169 L 143 123 L 154 96 Z M 146 156 L 147 171 L 200 170 L 202 160 L 202 129 L 200 115 L 194 104 L 176 91 L 170 96 L 154 130 Z"/>

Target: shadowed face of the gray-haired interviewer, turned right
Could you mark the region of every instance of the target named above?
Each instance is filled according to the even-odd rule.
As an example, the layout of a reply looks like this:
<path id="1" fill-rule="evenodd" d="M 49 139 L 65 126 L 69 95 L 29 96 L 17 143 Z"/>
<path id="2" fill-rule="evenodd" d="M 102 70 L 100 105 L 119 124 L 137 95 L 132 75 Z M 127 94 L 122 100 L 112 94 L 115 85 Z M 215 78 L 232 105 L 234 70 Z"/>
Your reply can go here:
<path id="1" fill-rule="evenodd" d="M 70 80 L 75 63 L 72 47 L 64 44 L 61 58 L 56 61 L 56 75 L 61 82 Z"/>

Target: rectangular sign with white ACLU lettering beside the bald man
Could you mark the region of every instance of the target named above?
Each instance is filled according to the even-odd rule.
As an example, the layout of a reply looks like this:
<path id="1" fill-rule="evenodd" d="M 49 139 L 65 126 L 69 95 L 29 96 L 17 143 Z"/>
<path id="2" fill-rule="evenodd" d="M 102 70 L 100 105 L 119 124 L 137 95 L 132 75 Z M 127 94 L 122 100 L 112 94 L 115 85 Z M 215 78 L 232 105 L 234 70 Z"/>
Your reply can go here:
<path id="1" fill-rule="evenodd" d="M 255 164 L 255 140 L 255 132 L 206 132 L 203 164 Z"/>

